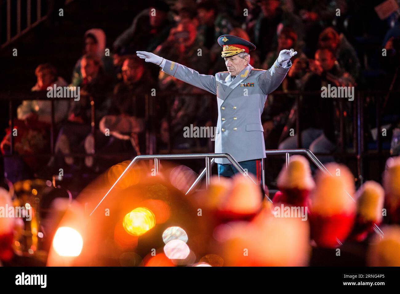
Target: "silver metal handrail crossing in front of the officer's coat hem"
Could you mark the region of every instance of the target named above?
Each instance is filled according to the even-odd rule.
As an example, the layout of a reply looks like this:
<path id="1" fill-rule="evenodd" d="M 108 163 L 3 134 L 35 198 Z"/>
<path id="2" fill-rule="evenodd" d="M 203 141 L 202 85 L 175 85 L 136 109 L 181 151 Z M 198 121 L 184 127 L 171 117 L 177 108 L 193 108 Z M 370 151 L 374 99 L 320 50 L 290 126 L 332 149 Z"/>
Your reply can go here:
<path id="1" fill-rule="evenodd" d="M 154 171 L 156 174 L 160 172 L 160 159 L 166 159 L 166 160 L 174 160 L 174 159 L 201 159 L 205 158 L 206 159 L 206 168 L 205 171 L 203 171 L 206 174 L 206 188 L 210 185 L 210 178 L 211 178 L 211 162 L 214 163 L 215 158 L 225 158 L 232 163 L 232 165 L 250 182 L 254 182 L 254 180 L 245 172 L 245 170 L 240 166 L 240 164 L 233 158 L 232 155 L 229 153 L 199 153 L 199 154 L 158 154 L 158 155 L 138 155 L 136 156 L 130 164 L 125 168 L 124 172 L 119 176 L 119 178 L 115 181 L 115 183 L 111 186 L 110 190 L 104 195 L 102 200 L 97 204 L 97 206 L 94 208 L 94 210 L 90 213 L 90 216 L 93 214 L 93 212 L 100 206 L 100 204 L 103 202 L 103 200 L 107 197 L 108 194 L 110 194 L 112 188 L 118 183 L 120 178 L 124 176 L 126 171 L 134 166 L 139 160 L 146 160 L 146 159 L 154 159 Z M 212 159 L 212 160 L 210 160 Z M 202 174 L 203 174 L 202 172 Z M 268 198 L 268 196 L 267 196 Z M 272 202 L 269 198 L 268 200 Z"/>

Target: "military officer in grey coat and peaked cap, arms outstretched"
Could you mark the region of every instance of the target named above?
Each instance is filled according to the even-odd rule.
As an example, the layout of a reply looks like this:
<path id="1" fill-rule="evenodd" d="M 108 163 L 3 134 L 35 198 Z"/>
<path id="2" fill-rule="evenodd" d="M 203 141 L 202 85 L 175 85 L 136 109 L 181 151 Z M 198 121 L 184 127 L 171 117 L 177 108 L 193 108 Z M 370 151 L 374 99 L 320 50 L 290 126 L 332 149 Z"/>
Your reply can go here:
<path id="1" fill-rule="evenodd" d="M 222 35 L 218 44 L 222 46 L 228 71 L 218 72 L 215 76 L 199 74 L 150 52 L 136 53 L 146 62 L 159 65 L 163 72 L 217 96 L 215 152 L 231 154 L 260 183 L 261 159 L 266 157 L 261 114 L 267 95 L 285 78 L 292 66 L 290 58 L 297 52 L 282 50 L 274 66 L 260 70 L 250 65 L 249 52 L 256 49 L 252 43 L 236 36 Z M 238 172 L 227 159 L 216 158 L 215 162 L 219 176 L 233 176 Z"/>

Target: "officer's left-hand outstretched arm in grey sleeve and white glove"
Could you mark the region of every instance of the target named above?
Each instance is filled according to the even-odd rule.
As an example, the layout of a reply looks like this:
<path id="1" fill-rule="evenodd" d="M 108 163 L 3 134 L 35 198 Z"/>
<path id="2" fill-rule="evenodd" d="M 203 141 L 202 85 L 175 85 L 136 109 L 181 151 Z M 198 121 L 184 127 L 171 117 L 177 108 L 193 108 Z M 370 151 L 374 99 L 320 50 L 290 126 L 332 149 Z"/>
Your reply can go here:
<path id="1" fill-rule="evenodd" d="M 136 53 L 146 62 L 152 62 L 159 65 L 163 72 L 170 74 L 174 78 L 206 90 L 214 95 L 217 94 L 215 76 L 199 74 L 196 72 L 196 70 L 192 70 L 191 68 L 183 66 L 182 64 L 178 64 L 174 61 L 166 60 L 150 52 L 136 51 Z"/>

